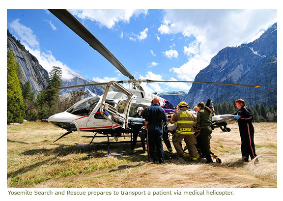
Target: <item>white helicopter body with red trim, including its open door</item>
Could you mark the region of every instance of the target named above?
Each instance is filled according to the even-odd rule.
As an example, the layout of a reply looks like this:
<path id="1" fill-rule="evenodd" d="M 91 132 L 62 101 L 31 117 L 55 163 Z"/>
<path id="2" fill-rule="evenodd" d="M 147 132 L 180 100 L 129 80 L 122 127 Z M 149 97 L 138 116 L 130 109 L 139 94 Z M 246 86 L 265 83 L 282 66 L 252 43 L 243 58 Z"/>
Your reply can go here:
<path id="1" fill-rule="evenodd" d="M 110 82 L 109 86 L 113 83 Z M 105 90 L 103 95 L 85 98 L 65 112 L 50 116 L 48 121 L 70 132 L 126 129 L 129 115 L 133 115 L 138 107 L 150 106 L 154 97 L 159 98 L 161 107 L 165 104 L 165 99 L 153 93 L 119 87 L 121 92 Z"/>

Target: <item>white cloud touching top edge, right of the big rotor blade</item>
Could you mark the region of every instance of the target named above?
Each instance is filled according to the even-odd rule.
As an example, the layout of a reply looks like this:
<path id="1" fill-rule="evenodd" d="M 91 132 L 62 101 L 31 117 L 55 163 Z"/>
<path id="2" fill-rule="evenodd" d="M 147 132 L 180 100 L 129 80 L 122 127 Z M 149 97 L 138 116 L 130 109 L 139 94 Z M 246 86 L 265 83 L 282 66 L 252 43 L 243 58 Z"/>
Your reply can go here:
<path id="1" fill-rule="evenodd" d="M 83 20 L 96 21 L 100 26 L 111 29 L 122 21 L 129 23 L 132 16 L 147 15 L 147 9 L 69 9 L 69 11 Z"/>

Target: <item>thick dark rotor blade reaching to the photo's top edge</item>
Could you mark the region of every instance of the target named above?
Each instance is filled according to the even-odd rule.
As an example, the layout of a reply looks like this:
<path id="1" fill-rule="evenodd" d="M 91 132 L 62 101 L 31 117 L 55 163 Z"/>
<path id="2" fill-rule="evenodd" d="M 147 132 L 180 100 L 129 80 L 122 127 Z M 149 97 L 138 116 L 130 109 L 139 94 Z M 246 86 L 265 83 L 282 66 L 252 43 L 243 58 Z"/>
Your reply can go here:
<path id="1" fill-rule="evenodd" d="M 113 56 L 113 54 L 66 9 L 48 9 L 68 28 L 72 29 L 82 39 L 85 40 L 93 49 L 109 60 L 123 75 L 130 79 L 134 76 Z"/>

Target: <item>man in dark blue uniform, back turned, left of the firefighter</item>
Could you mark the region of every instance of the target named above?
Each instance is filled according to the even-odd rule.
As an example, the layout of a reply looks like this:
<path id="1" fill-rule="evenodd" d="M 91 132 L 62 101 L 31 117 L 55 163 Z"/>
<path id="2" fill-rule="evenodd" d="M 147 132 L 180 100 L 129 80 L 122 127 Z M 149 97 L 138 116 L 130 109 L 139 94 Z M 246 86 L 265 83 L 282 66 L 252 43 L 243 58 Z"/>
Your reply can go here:
<path id="1" fill-rule="evenodd" d="M 150 106 L 145 113 L 145 126 L 147 129 L 147 153 L 150 162 L 164 163 L 164 153 L 162 144 L 163 121 L 167 121 L 164 110 L 159 106 L 159 99 L 152 100 L 153 105 Z M 157 157 L 154 155 L 154 148 L 157 148 Z"/>

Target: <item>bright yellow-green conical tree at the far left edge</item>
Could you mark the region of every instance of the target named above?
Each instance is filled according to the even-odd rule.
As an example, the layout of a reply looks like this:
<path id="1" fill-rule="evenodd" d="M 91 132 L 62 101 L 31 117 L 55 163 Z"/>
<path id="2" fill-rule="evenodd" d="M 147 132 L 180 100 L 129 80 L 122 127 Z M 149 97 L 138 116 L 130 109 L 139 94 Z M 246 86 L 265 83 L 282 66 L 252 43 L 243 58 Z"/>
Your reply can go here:
<path id="1" fill-rule="evenodd" d="M 7 53 L 7 123 L 23 123 L 26 105 L 18 78 L 18 63 L 12 51 Z"/>

